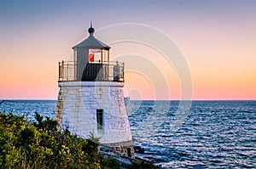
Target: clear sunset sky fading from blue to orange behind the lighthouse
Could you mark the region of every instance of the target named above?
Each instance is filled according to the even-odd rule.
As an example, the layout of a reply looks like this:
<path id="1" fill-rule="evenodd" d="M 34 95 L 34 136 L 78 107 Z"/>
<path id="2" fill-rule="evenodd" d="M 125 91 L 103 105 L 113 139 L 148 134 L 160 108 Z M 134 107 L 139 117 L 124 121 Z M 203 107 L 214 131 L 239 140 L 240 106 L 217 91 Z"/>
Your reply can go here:
<path id="1" fill-rule="evenodd" d="M 57 99 L 58 62 L 70 59 L 72 47 L 88 36 L 90 20 L 96 31 L 137 23 L 172 38 L 189 66 L 192 99 L 256 99 L 255 8 L 253 0 L 1 0 L 0 99 Z M 150 50 L 117 44 L 111 46 L 113 54 L 121 54 L 115 48 L 124 45 L 144 56 Z M 160 91 L 157 99 L 166 99 L 161 93 L 180 99 L 174 67 L 163 74 L 168 91 L 127 72 L 125 94 L 155 99 L 155 91 Z"/>

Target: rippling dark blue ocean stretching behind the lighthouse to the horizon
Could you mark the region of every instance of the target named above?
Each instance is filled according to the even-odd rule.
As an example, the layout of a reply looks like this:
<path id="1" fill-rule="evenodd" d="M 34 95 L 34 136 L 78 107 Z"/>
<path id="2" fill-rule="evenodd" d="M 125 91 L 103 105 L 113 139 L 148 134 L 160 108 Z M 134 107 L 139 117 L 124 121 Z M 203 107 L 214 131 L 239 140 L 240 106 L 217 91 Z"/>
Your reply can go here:
<path id="1" fill-rule="evenodd" d="M 176 130 L 179 101 L 131 101 L 136 155 L 162 168 L 256 168 L 256 101 L 193 101 Z M 55 117 L 55 100 L 0 100 L 0 111 Z M 180 116 L 179 116 L 180 117 Z"/>

